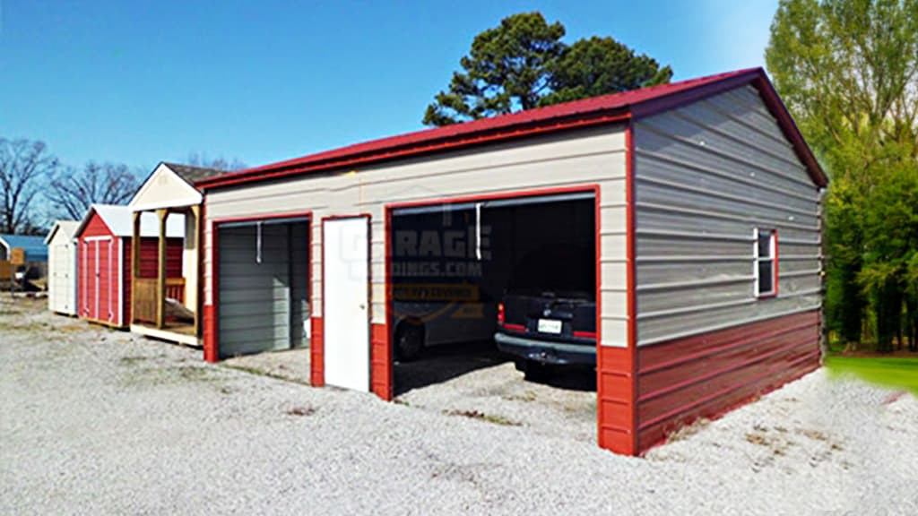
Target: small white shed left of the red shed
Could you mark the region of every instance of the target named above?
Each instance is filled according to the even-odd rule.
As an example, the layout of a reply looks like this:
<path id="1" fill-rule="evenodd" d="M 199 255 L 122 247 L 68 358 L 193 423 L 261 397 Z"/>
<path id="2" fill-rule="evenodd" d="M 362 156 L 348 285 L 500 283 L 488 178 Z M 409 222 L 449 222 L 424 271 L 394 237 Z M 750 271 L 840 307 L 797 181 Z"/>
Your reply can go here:
<path id="1" fill-rule="evenodd" d="M 48 246 L 48 309 L 76 315 L 76 242 L 73 234 L 80 222 L 58 220 L 45 238 Z"/>

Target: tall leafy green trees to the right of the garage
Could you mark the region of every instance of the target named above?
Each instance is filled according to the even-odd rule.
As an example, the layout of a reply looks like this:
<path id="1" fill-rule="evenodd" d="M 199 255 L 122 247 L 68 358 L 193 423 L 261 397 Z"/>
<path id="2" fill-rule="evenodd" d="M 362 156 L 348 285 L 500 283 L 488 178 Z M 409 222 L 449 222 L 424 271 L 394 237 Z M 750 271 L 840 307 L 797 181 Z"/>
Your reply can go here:
<path id="1" fill-rule="evenodd" d="M 889 351 L 916 318 L 918 0 L 782 0 L 766 62 L 833 180 L 829 327 Z"/>

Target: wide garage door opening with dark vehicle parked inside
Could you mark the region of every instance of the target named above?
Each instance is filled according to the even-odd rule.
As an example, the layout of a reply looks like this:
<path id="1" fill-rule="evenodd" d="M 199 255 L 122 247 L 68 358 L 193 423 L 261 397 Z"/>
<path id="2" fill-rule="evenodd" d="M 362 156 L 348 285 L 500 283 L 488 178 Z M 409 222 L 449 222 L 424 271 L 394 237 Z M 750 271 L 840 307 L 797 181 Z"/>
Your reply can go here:
<path id="1" fill-rule="evenodd" d="M 391 208 L 395 396 L 551 398 L 592 438 L 595 214 L 592 190 Z"/>

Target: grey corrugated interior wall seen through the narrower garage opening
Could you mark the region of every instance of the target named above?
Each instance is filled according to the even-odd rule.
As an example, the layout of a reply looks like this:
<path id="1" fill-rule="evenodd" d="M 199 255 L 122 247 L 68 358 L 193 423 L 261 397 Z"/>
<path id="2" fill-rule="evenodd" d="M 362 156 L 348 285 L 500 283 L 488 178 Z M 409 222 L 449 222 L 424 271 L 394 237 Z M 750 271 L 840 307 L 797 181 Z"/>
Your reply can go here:
<path id="1" fill-rule="evenodd" d="M 221 357 L 289 349 L 290 255 L 284 225 L 218 228 Z"/>

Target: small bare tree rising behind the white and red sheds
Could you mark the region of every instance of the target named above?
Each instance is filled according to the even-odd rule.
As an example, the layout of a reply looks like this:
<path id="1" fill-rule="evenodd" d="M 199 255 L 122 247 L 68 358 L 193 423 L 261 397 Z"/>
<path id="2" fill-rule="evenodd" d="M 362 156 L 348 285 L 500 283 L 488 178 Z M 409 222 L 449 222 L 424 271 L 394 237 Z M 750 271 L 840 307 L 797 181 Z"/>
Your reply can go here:
<path id="1" fill-rule="evenodd" d="M 125 204 L 140 186 L 137 174 L 121 163 L 86 163 L 68 167 L 51 179 L 47 197 L 56 216 L 83 219 L 91 204 Z"/>

